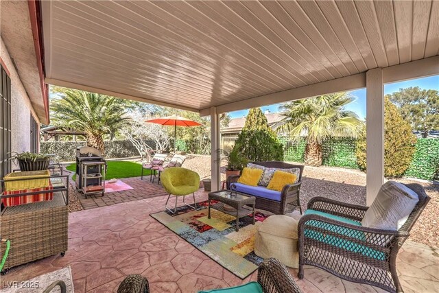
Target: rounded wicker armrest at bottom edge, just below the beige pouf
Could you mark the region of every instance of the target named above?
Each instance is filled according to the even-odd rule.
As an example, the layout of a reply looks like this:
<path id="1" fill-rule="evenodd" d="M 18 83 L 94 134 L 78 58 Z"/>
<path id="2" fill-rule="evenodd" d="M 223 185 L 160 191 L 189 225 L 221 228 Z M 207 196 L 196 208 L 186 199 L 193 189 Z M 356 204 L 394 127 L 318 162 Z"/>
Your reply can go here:
<path id="1" fill-rule="evenodd" d="M 265 259 L 258 268 L 258 283 L 264 293 L 300 293 L 300 288 L 283 263 Z"/>

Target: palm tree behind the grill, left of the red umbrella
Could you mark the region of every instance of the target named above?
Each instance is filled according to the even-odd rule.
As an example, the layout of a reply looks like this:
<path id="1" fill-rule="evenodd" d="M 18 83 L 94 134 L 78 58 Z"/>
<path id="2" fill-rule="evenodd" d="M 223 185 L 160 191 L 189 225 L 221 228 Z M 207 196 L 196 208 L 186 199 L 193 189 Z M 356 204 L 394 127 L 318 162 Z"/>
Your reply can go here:
<path id="1" fill-rule="evenodd" d="M 108 95 L 68 90 L 51 104 L 53 124 L 85 132 L 88 146 L 105 153 L 104 134 L 112 134 L 128 122 L 123 101 Z"/>

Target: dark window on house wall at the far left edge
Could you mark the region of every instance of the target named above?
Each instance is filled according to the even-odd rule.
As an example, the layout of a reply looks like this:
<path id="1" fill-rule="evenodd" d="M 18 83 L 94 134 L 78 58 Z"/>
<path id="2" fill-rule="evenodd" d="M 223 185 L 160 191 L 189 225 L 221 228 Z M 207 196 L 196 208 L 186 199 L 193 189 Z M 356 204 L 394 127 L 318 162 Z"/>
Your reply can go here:
<path id="1" fill-rule="evenodd" d="M 1 67 L 0 81 L 0 178 L 11 172 L 11 80 Z"/>

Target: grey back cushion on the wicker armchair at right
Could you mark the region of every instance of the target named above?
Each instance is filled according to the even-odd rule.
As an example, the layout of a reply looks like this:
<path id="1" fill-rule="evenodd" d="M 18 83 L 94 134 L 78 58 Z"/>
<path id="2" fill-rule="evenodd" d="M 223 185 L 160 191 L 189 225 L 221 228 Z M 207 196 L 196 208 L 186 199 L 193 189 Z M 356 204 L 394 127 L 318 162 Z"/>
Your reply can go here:
<path id="1" fill-rule="evenodd" d="M 379 189 L 377 198 L 366 211 L 361 225 L 369 228 L 399 230 L 418 203 L 415 191 L 395 181 Z"/>

